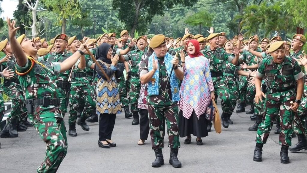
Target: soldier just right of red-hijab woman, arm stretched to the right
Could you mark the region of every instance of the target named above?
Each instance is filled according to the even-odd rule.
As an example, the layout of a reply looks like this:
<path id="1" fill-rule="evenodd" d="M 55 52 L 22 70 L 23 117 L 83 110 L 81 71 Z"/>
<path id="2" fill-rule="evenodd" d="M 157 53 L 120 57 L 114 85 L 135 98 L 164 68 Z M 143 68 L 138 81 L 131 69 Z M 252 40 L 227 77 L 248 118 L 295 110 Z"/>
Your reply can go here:
<path id="1" fill-rule="evenodd" d="M 232 63 L 236 65 L 238 63 L 238 55 L 235 57 L 227 54 L 224 50 L 218 48 L 219 34 L 212 33 L 208 36 L 207 40 L 210 42 L 210 46 L 204 51 L 204 56 L 208 58 L 210 63 L 210 72 L 214 85 L 215 95 L 222 100 L 223 113 L 221 115 L 222 125 L 224 128 L 228 128 L 228 119 L 232 114 L 231 111 L 231 93 L 226 85 L 227 79 L 223 77 L 223 68 L 225 64 Z"/>

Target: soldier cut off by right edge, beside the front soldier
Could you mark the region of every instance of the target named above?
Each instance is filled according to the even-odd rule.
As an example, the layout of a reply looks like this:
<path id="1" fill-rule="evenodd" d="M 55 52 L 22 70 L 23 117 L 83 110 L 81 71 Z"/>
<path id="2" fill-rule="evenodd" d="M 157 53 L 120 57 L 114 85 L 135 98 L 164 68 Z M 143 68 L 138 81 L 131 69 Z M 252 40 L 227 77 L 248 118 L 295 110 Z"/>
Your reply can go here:
<path id="1" fill-rule="evenodd" d="M 293 35 L 293 40 L 291 43 L 291 50 L 293 52 L 291 53 L 290 57 L 295 59 L 300 59 L 300 56 L 302 55 L 302 47 L 306 43 L 306 38 L 304 35 L 301 34 L 295 34 Z M 303 63 L 303 61 L 301 62 Z M 304 67 L 304 68 L 303 68 Z M 305 90 L 304 90 L 304 96 L 302 99 L 302 103 L 300 107 L 298 108 L 298 114 L 294 115 L 293 120 L 293 130 L 295 134 L 298 137 L 298 143 L 295 144 L 295 146 L 290 147 L 291 152 L 297 152 L 303 149 L 307 149 L 307 76 L 306 76 L 306 66 L 302 64 L 302 69 L 304 72 L 304 79 L 305 79 Z"/>

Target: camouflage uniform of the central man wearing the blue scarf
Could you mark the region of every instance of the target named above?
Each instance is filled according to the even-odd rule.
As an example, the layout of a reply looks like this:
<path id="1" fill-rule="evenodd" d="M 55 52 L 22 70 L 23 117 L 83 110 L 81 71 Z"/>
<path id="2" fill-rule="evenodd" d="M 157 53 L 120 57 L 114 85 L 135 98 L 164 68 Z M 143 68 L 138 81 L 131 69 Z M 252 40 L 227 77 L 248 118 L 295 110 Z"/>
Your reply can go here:
<path id="1" fill-rule="evenodd" d="M 151 58 L 151 56 L 149 57 Z M 161 149 L 164 147 L 163 139 L 165 135 L 165 120 L 167 134 L 169 135 L 169 147 L 179 148 L 180 139 L 178 131 L 178 105 L 172 102 L 172 91 L 170 84 L 167 84 L 167 71 L 164 58 L 159 62 L 159 95 L 147 96 L 148 116 L 150 126 L 150 137 L 152 149 Z M 142 60 L 140 64 L 140 74 L 148 72 L 148 58 Z M 167 86 L 165 96 L 165 87 Z"/>

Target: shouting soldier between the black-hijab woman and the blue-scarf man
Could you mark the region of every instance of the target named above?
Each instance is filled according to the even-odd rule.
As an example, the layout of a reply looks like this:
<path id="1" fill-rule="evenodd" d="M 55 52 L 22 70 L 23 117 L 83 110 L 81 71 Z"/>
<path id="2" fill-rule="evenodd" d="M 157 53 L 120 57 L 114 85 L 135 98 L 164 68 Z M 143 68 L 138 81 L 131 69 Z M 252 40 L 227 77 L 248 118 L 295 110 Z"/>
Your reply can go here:
<path id="1" fill-rule="evenodd" d="M 130 83 L 130 104 L 131 104 L 131 112 L 133 114 L 132 125 L 138 125 L 139 123 L 139 115 L 138 115 L 138 96 L 140 94 L 141 89 L 141 81 L 138 76 L 138 67 L 142 60 L 142 55 L 147 52 L 146 50 L 146 42 L 147 38 L 145 36 L 140 36 L 136 40 L 138 50 L 132 50 L 127 55 L 124 55 L 126 61 L 130 62 L 130 70 L 128 71 L 128 78 Z"/>

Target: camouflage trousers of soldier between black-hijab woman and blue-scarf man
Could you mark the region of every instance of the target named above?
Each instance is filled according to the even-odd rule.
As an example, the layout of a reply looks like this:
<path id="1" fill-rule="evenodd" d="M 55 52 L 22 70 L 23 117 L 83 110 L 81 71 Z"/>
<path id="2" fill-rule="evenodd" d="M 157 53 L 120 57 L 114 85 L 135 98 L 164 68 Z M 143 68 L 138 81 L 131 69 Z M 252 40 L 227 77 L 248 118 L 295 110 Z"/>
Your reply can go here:
<path id="1" fill-rule="evenodd" d="M 138 77 L 130 78 L 130 104 L 131 104 L 131 112 L 138 112 L 138 96 L 140 95 L 141 90 L 141 81 Z"/>

